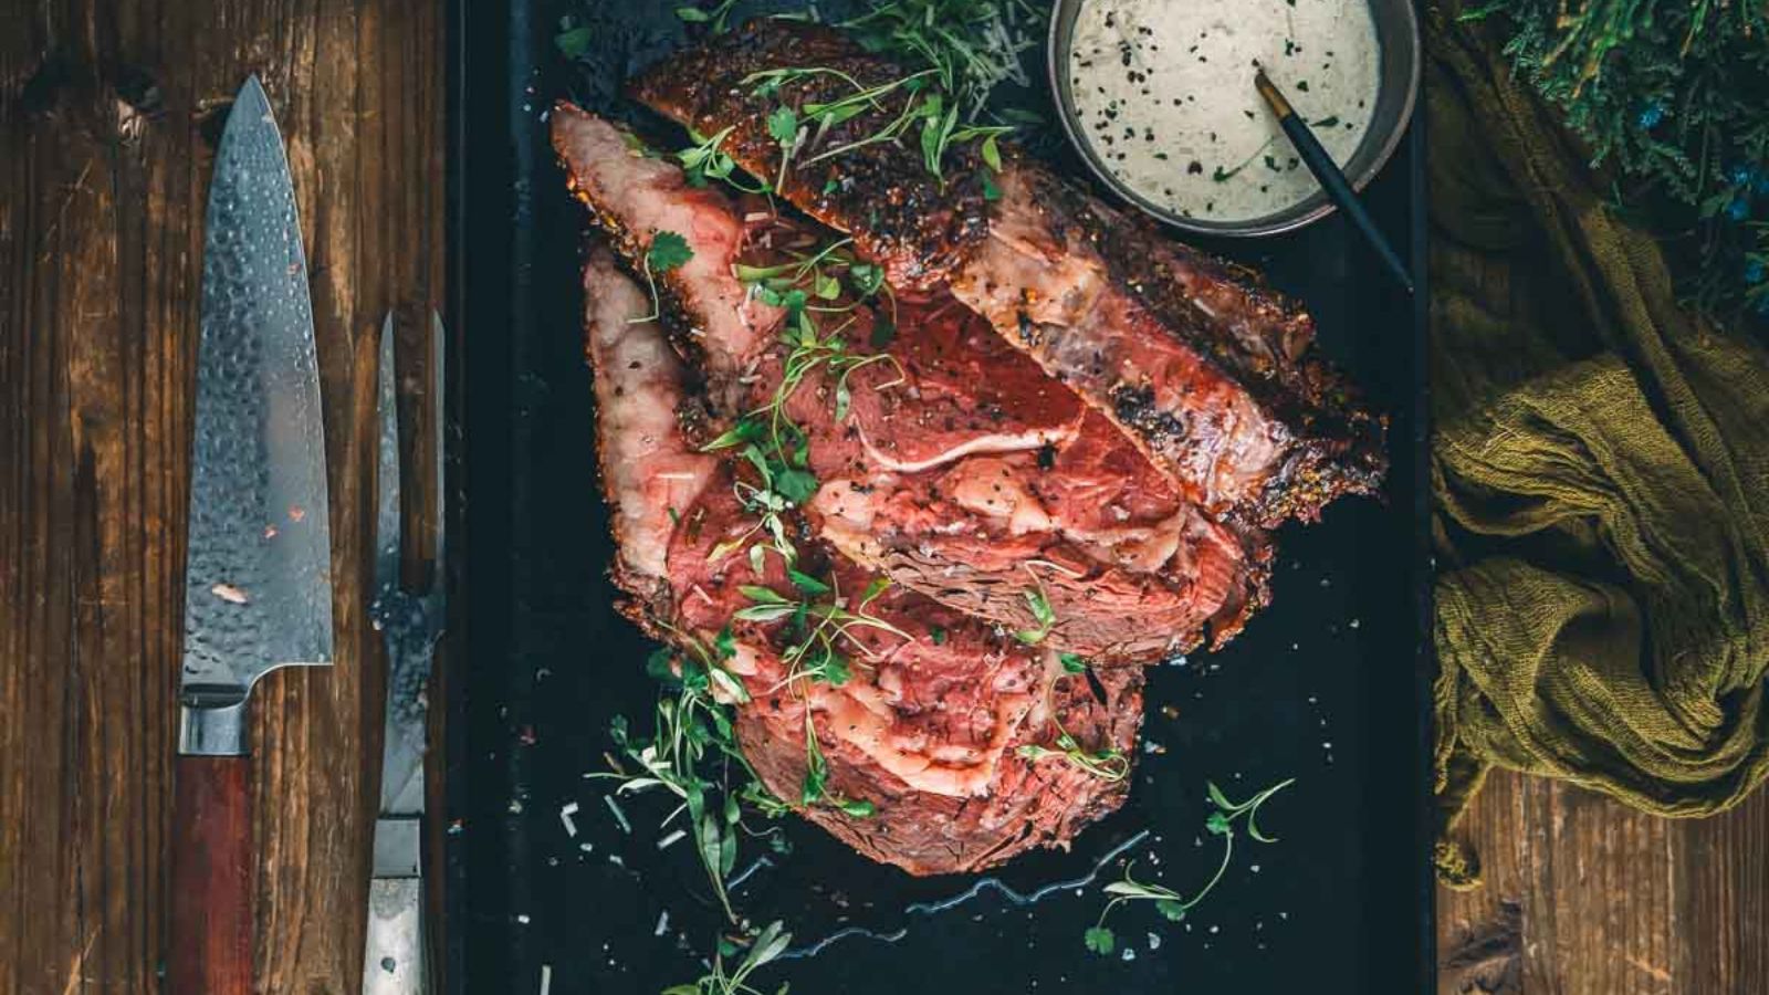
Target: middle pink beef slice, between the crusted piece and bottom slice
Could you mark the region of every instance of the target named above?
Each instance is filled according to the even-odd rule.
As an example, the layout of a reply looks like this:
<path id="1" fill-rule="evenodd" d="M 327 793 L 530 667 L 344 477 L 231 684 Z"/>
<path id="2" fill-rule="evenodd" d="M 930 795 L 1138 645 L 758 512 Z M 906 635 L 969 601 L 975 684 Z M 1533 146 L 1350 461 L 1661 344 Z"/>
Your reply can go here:
<path id="1" fill-rule="evenodd" d="M 784 365 L 798 363 L 801 379 L 780 413 L 803 430 L 821 483 L 803 512 L 856 563 L 1102 662 L 1183 652 L 1206 636 L 1221 644 L 1265 604 L 1261 533 L 1203 515 L 1109 421 L 950 296 L 824 301 L 839 312 L 828 324 L 856 349 L 870 349 L 879 328 L 895 336 L 877 345 L 886 361 L 846 381 L 828 363 L 807 370 L 805 352 L 793 359 L 778 342 L 778 308 L 739 303 L 743 322 L 702 308 L 734 306 L 734 266 L 803 258 L 828 235 L 685 186 L 672 166 L 575 108 L 555 110 L 554 135 L 573 189 L 635 269 L 656 234 L 646 225 L 658 220 L 679 225 L 693 251 L 690 266 L 665 274 L 676 290 L 663 310 L 685 312 L 704 386 L 720 398 L 690 418 L 695 443 L 780 397 Z M 729 331 L 708 331 L 720 328 Z"/>

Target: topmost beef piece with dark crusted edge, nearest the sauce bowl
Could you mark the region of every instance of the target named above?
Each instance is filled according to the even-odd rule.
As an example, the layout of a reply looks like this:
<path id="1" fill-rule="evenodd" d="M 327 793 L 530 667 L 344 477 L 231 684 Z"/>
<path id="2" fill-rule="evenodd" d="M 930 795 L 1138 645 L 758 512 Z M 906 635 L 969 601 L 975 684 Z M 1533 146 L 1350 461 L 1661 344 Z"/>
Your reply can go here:
<path id="1" fill-rule="evenodd" d="M 922 119 L 906 115 L 927 99 L 916 78 L 831 28 L 759 19 L 633 92 L 702 133 L 729 129 L 738 163 L 851 234 L 900 289 L 948 289 L 1214 517 L 1313 519 L 1378 487 L 1385 423 L 1313 352 L 1302 310 L 1012 152 L 992 172 L 978 143 L 953 142 L 934 175 Z M 851 117 L 787 142 L 770 131 L 780 108 L 805 120 L 856 94 Z"/>

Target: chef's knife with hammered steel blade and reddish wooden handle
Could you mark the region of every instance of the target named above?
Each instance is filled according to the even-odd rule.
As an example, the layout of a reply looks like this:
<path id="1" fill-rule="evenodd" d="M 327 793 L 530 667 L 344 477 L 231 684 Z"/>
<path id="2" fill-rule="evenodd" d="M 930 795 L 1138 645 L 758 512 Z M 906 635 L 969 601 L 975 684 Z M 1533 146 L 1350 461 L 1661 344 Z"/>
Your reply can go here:
<path id="1" fill-rule="evenodd" d="M 251 991 L 246 699 L 333 659 L 313 310 L 283 140 L 257 76 L 216 152 L 203 234 L 179 760 L 172 995 Z"/>

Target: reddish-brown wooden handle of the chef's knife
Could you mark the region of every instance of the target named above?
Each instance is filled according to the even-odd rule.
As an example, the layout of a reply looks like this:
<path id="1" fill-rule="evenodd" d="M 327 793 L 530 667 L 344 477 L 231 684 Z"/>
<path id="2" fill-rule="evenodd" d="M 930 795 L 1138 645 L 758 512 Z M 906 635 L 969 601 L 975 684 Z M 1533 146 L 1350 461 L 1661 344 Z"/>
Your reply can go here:
<path id="1" fill-rule="evenodd" d="M 166 995 L 249 995 L 255 868 L 244 756 L 173 768 Z"/>

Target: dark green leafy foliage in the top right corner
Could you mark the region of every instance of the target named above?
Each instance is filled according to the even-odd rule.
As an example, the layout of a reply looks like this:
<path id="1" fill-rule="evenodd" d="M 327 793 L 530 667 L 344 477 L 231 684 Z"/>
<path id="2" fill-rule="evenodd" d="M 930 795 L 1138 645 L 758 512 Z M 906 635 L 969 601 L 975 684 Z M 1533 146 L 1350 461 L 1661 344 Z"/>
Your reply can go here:
<path id="1" fill-rule="evenodd" d="M 1489 0 L 1505 55 L 1677 244 L 1684 292 L 1769 313 L 1769 2 Z"/>

